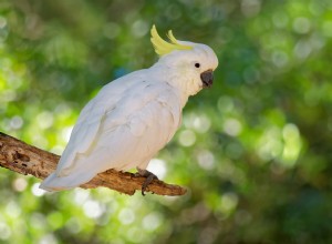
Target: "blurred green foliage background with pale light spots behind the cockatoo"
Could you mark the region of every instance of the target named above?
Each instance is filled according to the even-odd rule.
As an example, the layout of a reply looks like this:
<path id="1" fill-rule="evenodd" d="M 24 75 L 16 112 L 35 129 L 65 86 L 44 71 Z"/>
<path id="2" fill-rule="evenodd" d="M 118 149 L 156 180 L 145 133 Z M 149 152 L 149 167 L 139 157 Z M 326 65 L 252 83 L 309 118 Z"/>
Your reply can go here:
<path id="1" fill-rule="evenodd" d="M 0 130 L 61 154 L 107 82 L 157 61 L 155 23 L 210 45 L 151 170 L 181 197 L 44 194 L 0 169 L 0 243 L 332 243 L 332 1 L 0 1 Z"/>

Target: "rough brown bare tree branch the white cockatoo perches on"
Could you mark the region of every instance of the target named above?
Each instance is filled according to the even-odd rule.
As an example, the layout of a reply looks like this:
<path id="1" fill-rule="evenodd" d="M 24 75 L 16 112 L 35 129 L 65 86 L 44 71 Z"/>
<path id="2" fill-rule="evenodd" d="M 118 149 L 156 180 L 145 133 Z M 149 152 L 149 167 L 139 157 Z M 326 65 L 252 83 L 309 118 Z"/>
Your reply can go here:
<path id="1" fill-rule="evenodd" d="M 20 174 L 31 174 L 38 179 L 45 179 L 58 164 L 60 156 L 29 145 L 18 139 L 0 132 L 0 166 Z M 97 174 L 90 182 L 81 185 L 83 189 L 108 187 L 121 193 L 133 195 L 141 191 L 145 177 L 128 172 L 108 170 Z M 178 185 L 166 184 L 154 180 L 146 192 L 158 195 L 184 195 L 186 190 Z"/>

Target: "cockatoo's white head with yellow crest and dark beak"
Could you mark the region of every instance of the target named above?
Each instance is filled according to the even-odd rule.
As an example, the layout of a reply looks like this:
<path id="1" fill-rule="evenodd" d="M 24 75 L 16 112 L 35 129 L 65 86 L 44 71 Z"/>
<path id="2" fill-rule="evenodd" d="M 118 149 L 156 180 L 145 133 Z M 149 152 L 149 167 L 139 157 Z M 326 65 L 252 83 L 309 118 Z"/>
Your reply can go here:
<path id="1" fill-rule="evenodd" d="M 163 40 L 156 27 L 151 30 L 151 41 L 160 59 L 177 75 L 175 82 L 185 89 L 189 95 L 196 94 L 203 88 L 210 88 L 218 59 L 211 48 L 206 44 L 176 40 L 168 31 L 169 42 Z"/>

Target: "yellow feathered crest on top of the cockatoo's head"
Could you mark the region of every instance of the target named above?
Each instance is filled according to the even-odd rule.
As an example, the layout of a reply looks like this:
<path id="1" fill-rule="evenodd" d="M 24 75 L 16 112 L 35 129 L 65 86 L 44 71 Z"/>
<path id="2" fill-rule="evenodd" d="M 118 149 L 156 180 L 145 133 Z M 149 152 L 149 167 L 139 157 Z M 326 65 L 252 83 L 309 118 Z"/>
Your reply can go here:
<path id="1" fill-rule="evenodd" d="M 193 47 L 190 45 L 184 45 L 178 43 L 178 41 L 173 35 L 172 30 L 168 31 L 167 38 L 169 39 L 170 42 L 163 40 L 163 38 L 160 38 L 160 35 L 157 32 L 156 26 L 155 24 L 153 26 L 153 28 L 151 29 L 151 42 L 153 43 L 157 54 L 165 55 L 175 50 L 193 49 Z"/>

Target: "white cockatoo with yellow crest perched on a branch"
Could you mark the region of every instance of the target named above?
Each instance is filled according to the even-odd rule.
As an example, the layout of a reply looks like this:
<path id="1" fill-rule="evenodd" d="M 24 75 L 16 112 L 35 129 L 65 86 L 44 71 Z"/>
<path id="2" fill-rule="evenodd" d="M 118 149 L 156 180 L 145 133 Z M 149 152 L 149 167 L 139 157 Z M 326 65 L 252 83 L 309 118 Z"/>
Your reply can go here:
<path id="1" fill-rule="evenodd" d="M 159 60 L 106 84 L 82 110 L 54 173 L 40 185 L 46 191 L 74 189 L 110 169 L 136 167 L 146 176 L 142 193 L 155 175 L 149 161 L 173 138 L 190 95 L 212 84 L 218 59 L 206 44 L 163 40 L 156 27 L 151 41 Z"/>

